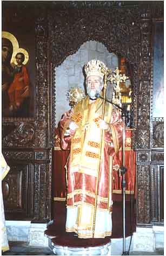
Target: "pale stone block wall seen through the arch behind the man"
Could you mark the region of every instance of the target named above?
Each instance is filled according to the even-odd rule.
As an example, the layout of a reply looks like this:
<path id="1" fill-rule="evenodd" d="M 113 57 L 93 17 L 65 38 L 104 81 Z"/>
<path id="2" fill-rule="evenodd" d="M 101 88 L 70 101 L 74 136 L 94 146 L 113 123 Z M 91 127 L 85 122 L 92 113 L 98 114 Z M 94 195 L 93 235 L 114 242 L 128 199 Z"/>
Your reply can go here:
<path id="1" fill-rule="evenodd" d="M 56 126 L 64 112 L 70 109 L 67 91 L 71 87 L 79 86 L 84 91 L 83 67 L 87 61 L 98 59 L 114 70 L 118 67 L 118 58 L 114 53 L 109 53 L 104 44 L 88 41 L 82 44 L 79 50 L 67 57 L 61 66 L 56 68 Z M 110 99 L 111 92 L 108 92 Z"/>

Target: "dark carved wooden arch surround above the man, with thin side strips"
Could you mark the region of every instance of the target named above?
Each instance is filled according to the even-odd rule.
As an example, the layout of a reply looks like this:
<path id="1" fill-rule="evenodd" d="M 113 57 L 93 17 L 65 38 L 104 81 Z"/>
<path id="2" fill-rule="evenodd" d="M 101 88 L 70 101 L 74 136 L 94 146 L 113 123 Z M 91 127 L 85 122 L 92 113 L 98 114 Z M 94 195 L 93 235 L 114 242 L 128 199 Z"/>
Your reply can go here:
<path id="1" fill-rule="evenodd" d="M 136 87 L 138 49 L 141 30 L 138 9 L 73 9 L 52 12 L 49 17 L 49 49 L 52 63 L 52 85 L 56 84 L 55 67 L 77 52 L 84 42 L 95 40 L 104 44 L 109 52 L 124 56 L 133 66 L 134 104 L 136 116 Z M 56 88 L 52 87 L 52 125 L 55 127 Z"/>

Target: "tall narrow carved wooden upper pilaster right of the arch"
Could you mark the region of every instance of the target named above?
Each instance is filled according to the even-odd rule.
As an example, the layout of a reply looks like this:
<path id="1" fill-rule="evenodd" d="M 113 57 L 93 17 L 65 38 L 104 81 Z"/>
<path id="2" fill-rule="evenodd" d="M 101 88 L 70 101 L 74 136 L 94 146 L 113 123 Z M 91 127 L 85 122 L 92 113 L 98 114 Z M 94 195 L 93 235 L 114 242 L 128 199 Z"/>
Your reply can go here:
<path id="1" fill-rule="evenodd" d="M 144 10 L 145 12 L 147 10 Z M 146 14 L 146 13 L 145 13 Z M 145 15 L 148 17 L 147 15 Z M 139 149 L 148 149 L 150 146 L 150 31 L 151 23 L 142 20 L 141 23 L 141 45 L 140 45 L 140 84 L 138 88 L 138 109 L 137 109 L 137 136 L 136 147 Z"/>

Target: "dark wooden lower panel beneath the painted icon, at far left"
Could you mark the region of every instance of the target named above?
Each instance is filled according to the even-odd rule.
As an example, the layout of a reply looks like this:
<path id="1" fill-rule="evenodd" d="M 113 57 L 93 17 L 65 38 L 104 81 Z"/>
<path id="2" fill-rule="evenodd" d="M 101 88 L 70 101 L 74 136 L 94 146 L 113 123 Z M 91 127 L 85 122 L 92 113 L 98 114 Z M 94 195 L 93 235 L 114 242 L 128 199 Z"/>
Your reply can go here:
<path id="1" fill-rule="evenodd" d="M 32 172 L 30 164 L 10 165 L 10 171 L 2 181 L 6 219 L 26 219 L 32 215 Z"/>

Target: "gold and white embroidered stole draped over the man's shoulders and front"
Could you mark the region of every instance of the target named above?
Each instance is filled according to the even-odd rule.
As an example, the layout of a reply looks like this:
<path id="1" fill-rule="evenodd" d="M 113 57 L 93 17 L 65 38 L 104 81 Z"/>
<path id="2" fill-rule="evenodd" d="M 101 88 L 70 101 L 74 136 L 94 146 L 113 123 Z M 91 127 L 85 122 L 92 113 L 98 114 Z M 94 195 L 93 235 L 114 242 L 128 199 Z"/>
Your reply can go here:
<path id="1" fill-rule="evenodd" d="M 102 103 L 103 100 L 97 99 L 94 103 L 89 104 L 89 97 L 87 97 L 74 108 L 72 120 L 79 126 L 71 140 L 71 169 L 74 172 L 97 176 L 96 167 L 100 159 L 101 143 L 101 129 L 99 129 L 98 120 L 102 117 Z M 110 123 L 111 114 L 112 105 L 105 104 L 104 120 L 107 123 Z M 104 140 L 102 144 L 103 149 Z"/>

